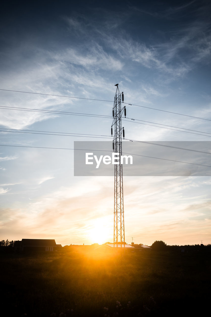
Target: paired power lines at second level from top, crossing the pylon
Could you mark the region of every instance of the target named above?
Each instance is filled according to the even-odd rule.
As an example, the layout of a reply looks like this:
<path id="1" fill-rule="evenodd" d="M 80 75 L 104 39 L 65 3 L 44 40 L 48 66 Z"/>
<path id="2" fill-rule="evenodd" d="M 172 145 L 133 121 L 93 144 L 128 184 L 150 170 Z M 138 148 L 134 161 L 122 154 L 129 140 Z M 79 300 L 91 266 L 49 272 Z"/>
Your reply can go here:
<path id="1" fill-rule="evenodd" d="M 77 113 L 77 112 L 66 112 L 66 111 L 53 111 L 53 110 L 42 110 L 42 109 L 33 109 L 33 108 L 19 108 L 19 107 L 7 107 L 7 106 L 0 106 L 0 109 L 6 109 L 6 110 L 20 110 L 20 111 L 29 111 L 29 112 L 40 112 L 40 113 L 55 113 L 55 114 L 67 114 L 67 115 L 76 115 L 76 116 L 85 116 L 85 117 L 93 117 L 93 118 L 107 118 L 110 119 L 112 116 L 109 115 L 101 115 L 101 114 L 91 114 L 91 113 Z M 132 121 L 129 120 L 125 120 L 122 119 L 124 121 L 128 121 L 128 122 L 133 122 L 133 123 L 138 123 L 138 124 L 142 124 L 142 125 L 146 125 L 146 126 L 154 126 L 151 124 L 147 124 L 147 123 L 142 123 L 142 122 L 136 122 L 136 121 L 143 121 L 143 122 L 150 122 L 150 121 L 144 121 L 144 120 L 139 120 L 139 119 L 132 119 L 132 118 L 128 118 L 126 117 L 126 119 L 131 119 Z M 195 132 L 200 132 L 200 133 L 194 133 L 194 132 L 189 132 L 189 131 L 183 131 L 183 130 L 177 130 L 177 129 L 172 129 L 172 128 L 167 128 L 167 127 L 163 127 L 163 126 L 168 126 L 168 125 L 164 125 L 162 123 L 156 123 L 156 122 L 150 122 L 150 123 L 154 123 L 154 124 L 160 124 L 162 126 L 155 126 L 157 128 L 163 128 L 163 129 L 169 129 L 169 130 L 173 130 L 173 131 L 179 131 L 179 132 L 186 132 L 186 133 L 191 133 L 191 134 L 197 134 L 197 135 L 203 135 L 203 136 L 208 136 L 209 135 L 205 135 L 205 134 L 201 134 L 201 133 L 207 133 L 207 134 L 211 134 L 208 132 L 202 132 L 202 131 L 197 131 L 197 130 L 191 130 L 191 129 L 185 129 L 185 128 L 180 128 L 180 127 L 176 127 L 178 129 L 184 129 L 184 130 L 189 130 L 189 131 L 195 131 Z M 170 126 L 170 127 L 174 127 L 174 126 Z"/>

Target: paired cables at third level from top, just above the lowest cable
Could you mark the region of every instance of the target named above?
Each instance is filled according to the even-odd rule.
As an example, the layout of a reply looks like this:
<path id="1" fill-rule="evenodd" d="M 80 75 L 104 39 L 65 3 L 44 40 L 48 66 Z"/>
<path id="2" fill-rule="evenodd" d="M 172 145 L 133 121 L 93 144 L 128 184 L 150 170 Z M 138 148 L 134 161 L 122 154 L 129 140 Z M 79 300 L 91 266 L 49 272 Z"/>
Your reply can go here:
<path id="1" fill-rule="evenodd" d="M 0 129 L 4 129 L 5 130 L 6 128 L 0 128 Z M 16 130 L 16 131 L 2 131 L 2 130 L 0 130 L 0 132 L 29 133 L 29 134 L 43 134 L 43 135 L 60 135 L 60 136 L 82 137 L 82 138 L 112 139 L 112 136 L 100 135 L 100 134 L 84 134 L 84 133 L 68 133 L 68 132 L 65 133 L 65 132 L 37 131 L 37 130 L 18 130 L 18 129 L 8 129 L 8 130 Z M 28 131 L 31 131 L 31 132 L 28 132 Z M 57 133 L 61 133 L 61 134 L 57 134 Z M 71 134 L 71 135 L 69 135 L 69 134 Z M 191 152 L 199 152 L 199 153 L 204 153 L 204 154 L 211 154 L 210 152 L 203 152 L 203 151 L 198 151 L 198 150 L 193 150 L 193 149 L 186 149 L 186 148 L 182 148 L 182 147 L 169 146 L 169 145 L 164 145 L 164 144 L 157 144 L 157 143 L 152 143 L 152 142 L 147 142 L 147 141 L 140 141 L 140 140 L 134 140 L 134 139 L 125 139 L 125 140 L 132 141 L 132 142 L 152 144 L 152 145 L 157 145 L 157 146 L 170 147 L 170 148 L 174 148 L 174 149 L 186 150 L 186 151 L 191 151 Z"/>

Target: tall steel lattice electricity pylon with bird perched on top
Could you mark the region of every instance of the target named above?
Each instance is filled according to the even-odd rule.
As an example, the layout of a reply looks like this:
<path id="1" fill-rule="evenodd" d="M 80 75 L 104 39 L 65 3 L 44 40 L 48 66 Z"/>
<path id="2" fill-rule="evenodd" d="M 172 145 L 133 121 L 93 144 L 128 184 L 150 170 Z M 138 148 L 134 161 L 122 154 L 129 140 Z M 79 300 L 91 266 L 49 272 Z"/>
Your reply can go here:
<path id="1" fill-rule="evenodd" d="M 120 157 L 122 155 L 122 133 L 125 137 L 124 127 L 122 128 L 121 117 L 124 112 L 126 117 L 125 106 L 121 106 L 121 101 L 124 102 L 123 92 L 120 94 L 118 84 L 113 104 L 113 122 L 114 138 L 113 138 L 113 151 L 116 154 L 115 171 L 114 171 L 114 230 L 113 230 L 113 243 L 114 247 L 118 247 L 118 243 L 125 247 L 125 224 L 124 224 L 124 202 L 123 202 L 123 180 L 122 180 L 122 164 L 120 164 Z M 111 134 L 113 129 L 111 128 Z"/>

